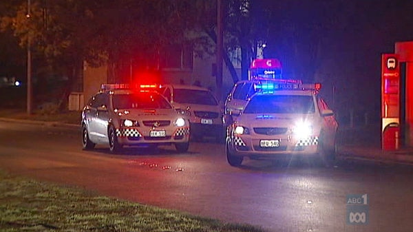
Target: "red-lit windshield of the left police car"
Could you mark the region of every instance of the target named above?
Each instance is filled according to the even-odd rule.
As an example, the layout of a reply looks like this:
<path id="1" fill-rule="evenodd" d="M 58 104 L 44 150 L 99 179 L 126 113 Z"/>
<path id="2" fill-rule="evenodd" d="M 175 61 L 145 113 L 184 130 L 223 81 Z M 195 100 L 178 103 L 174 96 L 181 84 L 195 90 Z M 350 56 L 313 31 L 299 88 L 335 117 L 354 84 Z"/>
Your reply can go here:
<path id="1" fill-rule="evenodd" d="M 159 94 L 142 92 L 136 94 L 115 94 L 114 109 L 171 109 L 168 101 Z"/>

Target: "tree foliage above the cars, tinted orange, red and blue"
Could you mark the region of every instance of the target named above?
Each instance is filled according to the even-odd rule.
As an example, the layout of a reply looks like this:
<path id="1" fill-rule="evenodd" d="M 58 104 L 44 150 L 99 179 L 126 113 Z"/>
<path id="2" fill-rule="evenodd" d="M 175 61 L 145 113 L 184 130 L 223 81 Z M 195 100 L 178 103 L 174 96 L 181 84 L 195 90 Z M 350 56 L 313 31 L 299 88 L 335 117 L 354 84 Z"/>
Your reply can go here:
<path id="1" fill-rule="evenodd" d="M 260 1 L 222 3 L 224 50 L 242 48 L 245 78 L 257 42 L 266 40 L 264 28 L 271 12 Z M 30 9 L 25 1 L 3 4 L 10 9 L 2 17 L 3 32 L 11 30 L 22 48 L 30 43 L 55 72 L 56 67 L 63 67 L 59 72 L 69 76 L 68 87 L 80 74 L 83 61 L 92 66 L 109 62 L 109 67 L 116 69 L 134 59 L 148 66 L 168 45 L 180 43 L 196 44 L 198 56 L 214 52 L 211 40 L 216 41 L 216 1 L 43 0 L 31 1 Z M 226 55 L 226 66 L 233 69 Z M 116 70 L 111 73 L 116 76 Z"/>

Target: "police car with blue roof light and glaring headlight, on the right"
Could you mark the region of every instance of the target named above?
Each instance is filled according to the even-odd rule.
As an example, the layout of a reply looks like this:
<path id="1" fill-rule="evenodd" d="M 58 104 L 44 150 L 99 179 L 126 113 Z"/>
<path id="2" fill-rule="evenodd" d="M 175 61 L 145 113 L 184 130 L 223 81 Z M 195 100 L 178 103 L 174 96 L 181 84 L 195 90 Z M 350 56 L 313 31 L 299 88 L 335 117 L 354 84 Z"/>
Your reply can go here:
<path id="1" fill-rule="evenodd" d="M 338 124 L 318 95 L 319 84 L 261 81 L 226 132 L 226 158 L 240 166 L 244 157 L 319 156 L 335 158 Z M 260 90 L 257 90 L 260 89 Z"/>

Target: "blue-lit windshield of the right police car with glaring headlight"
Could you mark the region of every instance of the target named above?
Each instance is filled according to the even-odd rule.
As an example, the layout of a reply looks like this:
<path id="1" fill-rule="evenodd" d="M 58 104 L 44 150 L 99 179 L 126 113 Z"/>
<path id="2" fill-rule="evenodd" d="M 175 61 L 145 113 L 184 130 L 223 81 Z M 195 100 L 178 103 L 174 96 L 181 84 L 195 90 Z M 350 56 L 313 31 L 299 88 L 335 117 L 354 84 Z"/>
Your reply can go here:
<path id="1" fill-rule="evenodd" d="M 256 95 L 246 105 L 244 114 L 313 114 L 312 96 Z"/>

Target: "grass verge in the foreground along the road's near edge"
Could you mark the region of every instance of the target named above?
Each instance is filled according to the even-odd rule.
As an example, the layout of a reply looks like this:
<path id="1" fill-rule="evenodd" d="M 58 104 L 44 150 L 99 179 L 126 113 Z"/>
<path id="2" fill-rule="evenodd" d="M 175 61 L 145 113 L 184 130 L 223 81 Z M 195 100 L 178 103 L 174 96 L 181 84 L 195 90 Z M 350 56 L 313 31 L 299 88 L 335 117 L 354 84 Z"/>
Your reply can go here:
<path id="1" fill-rule="evenodd" d="M 0 231 L 264 231 L 160 209 L 0 170 Z"/>

